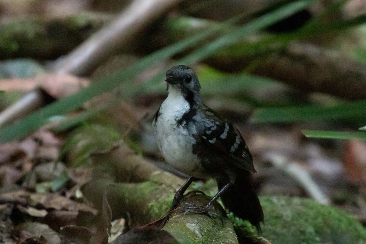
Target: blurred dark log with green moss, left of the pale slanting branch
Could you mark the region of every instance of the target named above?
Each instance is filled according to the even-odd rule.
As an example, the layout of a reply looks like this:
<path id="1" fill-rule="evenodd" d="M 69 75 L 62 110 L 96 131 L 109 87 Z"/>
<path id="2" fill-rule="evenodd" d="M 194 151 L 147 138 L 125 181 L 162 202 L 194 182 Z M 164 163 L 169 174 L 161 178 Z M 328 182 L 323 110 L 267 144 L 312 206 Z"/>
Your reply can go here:
<path id="1" fill-rule="evenodd" d="M 113 15 L 81 12 L 66 18 L 19 17 L 0 22 L 0 57 L 56 59 L 109 22 Z"/>

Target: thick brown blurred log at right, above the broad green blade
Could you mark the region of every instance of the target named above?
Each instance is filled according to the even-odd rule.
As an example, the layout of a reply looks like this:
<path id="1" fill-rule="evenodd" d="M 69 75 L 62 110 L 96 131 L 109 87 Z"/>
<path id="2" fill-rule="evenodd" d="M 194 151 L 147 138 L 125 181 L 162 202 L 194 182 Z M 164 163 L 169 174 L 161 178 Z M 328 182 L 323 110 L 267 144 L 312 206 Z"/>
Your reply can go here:
<path id="1" fill-rule="evenodd" d="M 366 66 L 340 52 L 292 42 L 258 65 L 255 74 L 303 91 L 319 91 L 347 100 L 366 98 Z"/>

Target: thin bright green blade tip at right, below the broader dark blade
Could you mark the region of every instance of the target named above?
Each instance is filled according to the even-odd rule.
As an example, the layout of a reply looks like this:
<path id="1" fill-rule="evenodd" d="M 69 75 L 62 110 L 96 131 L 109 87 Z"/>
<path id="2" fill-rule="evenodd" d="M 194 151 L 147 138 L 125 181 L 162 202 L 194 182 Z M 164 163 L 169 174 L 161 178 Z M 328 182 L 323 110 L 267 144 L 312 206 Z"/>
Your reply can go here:
<path id="1" fill-rule="evenodd" d="M 302 133 L 306 137 L 310 138 L 329 138 L 329 139 L 359 139 L 366 140 L 366 132 L 356 131 L 356 132 L 347 132 L 347 131 L 312 131 L 312 130 L 303 130 Z"/>

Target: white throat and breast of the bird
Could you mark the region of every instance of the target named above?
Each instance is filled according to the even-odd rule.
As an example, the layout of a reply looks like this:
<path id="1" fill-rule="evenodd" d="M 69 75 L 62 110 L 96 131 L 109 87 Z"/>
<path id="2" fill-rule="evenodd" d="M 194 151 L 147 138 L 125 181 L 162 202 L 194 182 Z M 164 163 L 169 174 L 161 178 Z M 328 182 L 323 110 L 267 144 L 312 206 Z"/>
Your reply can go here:
<path id="1" fill-rule="evenodd" d="M 160 116 L 153 123 L 155 137 L 168 164 L 189 176 L 202 177 L 201 164 L 197 155 L 192 153 L 195 139 L 186 128 L 177 124 L 189 109 L 190 106 L 180 91 L 169 87 L 169 95 L 159 109 Z"/>

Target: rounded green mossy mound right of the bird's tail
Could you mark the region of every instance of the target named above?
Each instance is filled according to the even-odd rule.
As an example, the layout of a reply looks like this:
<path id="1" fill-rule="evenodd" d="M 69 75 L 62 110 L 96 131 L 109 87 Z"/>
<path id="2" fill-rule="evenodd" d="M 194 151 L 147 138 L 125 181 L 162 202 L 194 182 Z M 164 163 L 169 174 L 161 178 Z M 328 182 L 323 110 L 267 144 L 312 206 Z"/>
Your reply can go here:
<path id="1" fill-rule="evenodd" d="M 273 244 L 366 243 L 366 229 L 341 209 L 287 196 L 261 196 L 260 200 L 265 215 L 262 236 Z"/>

